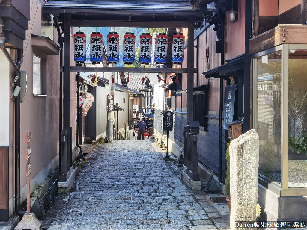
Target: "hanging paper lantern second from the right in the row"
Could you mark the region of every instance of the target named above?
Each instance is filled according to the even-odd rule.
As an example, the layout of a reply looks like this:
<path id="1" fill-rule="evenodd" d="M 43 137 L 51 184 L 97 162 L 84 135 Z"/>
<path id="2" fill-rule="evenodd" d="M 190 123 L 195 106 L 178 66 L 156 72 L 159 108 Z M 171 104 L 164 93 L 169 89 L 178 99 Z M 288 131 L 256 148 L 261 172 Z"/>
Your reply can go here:
<path id="1" fill-rule="evenodd" d="M 159 33 L 157 35 L 155 56 L 154 56 L 154 61 L 157 64 L 163 65 L 166 63 L 168 39 L 169 37 L 166 35 L 166 33 Z"/>

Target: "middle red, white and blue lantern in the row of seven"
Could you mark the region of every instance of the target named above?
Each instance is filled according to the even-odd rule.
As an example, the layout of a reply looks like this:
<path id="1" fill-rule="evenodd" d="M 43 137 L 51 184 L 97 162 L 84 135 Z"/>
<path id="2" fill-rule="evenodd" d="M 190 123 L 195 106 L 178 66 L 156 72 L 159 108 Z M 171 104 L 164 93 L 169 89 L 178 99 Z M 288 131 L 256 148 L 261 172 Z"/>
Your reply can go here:
<path id="1" fill-rule="evenodd" d="M 135 52 L 135 35 L 134 33 L 126 33 L 124 35 L 122 61 L 128 65 L 134 63 L 134 52 Z"/>

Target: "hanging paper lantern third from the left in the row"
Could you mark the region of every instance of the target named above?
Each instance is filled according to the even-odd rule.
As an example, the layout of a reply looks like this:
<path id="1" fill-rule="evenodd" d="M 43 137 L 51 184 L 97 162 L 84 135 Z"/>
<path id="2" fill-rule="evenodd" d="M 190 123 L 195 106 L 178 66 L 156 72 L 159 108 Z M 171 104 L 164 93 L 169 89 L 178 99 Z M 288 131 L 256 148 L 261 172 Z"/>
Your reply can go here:
<path id="1" fill-rule="evenodd" d="M 116 64 L 119 61 L 119 35 L 116 32 L 110 32 L 107 35 L 107 62 Z"/>

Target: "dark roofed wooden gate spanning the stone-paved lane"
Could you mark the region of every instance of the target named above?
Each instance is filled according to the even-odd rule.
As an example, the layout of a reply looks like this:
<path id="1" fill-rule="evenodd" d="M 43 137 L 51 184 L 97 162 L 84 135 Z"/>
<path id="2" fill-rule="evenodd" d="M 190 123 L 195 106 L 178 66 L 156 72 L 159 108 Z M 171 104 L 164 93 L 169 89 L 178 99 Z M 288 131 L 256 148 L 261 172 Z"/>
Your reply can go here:
<path id="1" fill-rule="evenodd" d="M 60 121 L 60 130 L 64 132 L 67 130 L 68 134 L 64 135 L 62 140 L 60 136 L 60 143 L 63 146 L 60 148 L 60 182 L 67 181 L 72 172 L 72 149 L 69 144 L 71 143 L 70 117 L 73 112 L 70 111 L 70 72 L 127 72 L 124 67 L 70 66 L 71 52 L 73 52 L 71 50 L 71 27 L 188 28 L 187 68 L 172 68 L 170 62 L 172 45 L 169 45 L 167 64 L 170 67 L 129 68 L 129 71 L 135 73 L 143 73 L 144 71 L 147 73 L 187 73 L 187 124 L 188 121 L 193 121 L 193 79 L 194 73 L 197 73 L 197 69 L 193 66 L 194 28 L 201 27 L 204 18 L 199 10 L 192 9 L 187 0 L 88 0 L 85 2 L 83 0 L 49 0 L 45 4 L 43 12 L 53 15 L 54 25 L 59 34 L 60 47 L 64 43 L 64 51 L 60 52 L 60 86 L 62 84 L 61 76 L 63 76 L 65 113 L 63 114 L 63 125 Z M 61 29 L 62 31 L 60 31 Z M 64 36 L 61 36 L 63 32 Z M 169 41 L 172 41 L 172 38 Z M 63 56 L 61 57 L 61 55 Z M 64 62 L 61 63 L 63 59 Z M 60 98 L 62 98 L 62 92 L 60 92 Z M 60 106 L 62 106 L 61 103 Z M 62 111 L 61 108 L 60 111 Z M 60 113 L 60 117 L 61 115 Z"/>

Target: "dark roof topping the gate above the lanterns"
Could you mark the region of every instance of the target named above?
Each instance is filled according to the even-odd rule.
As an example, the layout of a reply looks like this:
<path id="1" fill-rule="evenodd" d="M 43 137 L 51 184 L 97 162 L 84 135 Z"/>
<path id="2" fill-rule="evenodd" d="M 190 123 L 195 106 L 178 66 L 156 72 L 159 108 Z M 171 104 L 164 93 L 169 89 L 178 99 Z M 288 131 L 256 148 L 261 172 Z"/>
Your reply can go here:
<path id="1" fill-rule="evenodd" d="M 80 22 L 91 26 L 101 20 L 160 22 L 163 26 L 163 22 L 187 22 L 191 17 L 198 27 L 203 22 L 200 10 L 193 10 L 188 0 L 49 0 L 43 12 L 57 13 L 60 21 L 70 14 L 72 26 L 80 26 Z"/>

